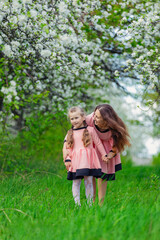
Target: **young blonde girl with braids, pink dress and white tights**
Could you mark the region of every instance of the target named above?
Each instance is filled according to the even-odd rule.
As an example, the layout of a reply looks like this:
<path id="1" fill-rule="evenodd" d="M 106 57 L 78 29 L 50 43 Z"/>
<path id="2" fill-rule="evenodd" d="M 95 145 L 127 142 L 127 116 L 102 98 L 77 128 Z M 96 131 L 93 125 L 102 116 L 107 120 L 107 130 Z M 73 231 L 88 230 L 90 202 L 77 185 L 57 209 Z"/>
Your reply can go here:
<path id="1" fill-rule="evenodd" d="M 68 170 L 68 180 L 73 180 L 72 193 L 74 201 L 80 206 L 80 185 L 84 178 L 87 202 L 93 200 L 93 176 L 101 177 L 101 165 L 93 143 L 99 150 L 102 160 L 107 161 L 106 151 L 93 127 L 88 127 L 85 122 L 85 113 L 80 107 L 69 109 L 68 116 L 72 128 L 68 131 L 63 150 L 68 149 L 64 158 Z M 64 154 L 65 155 L 65 154 Z"/>

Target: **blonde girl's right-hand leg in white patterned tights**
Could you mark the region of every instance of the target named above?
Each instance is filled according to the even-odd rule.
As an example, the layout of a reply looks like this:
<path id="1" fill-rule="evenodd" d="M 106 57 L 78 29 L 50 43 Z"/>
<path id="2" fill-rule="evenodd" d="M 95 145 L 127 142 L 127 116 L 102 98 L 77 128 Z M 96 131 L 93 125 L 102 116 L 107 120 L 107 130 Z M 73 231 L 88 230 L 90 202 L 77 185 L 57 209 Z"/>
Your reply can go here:
<path id="1" fill-rule="evenodd" d="M 93 177 L 85 176 L 84 184 L 85 184 L 87 203 L 91 206 L 93 202 Z"/>

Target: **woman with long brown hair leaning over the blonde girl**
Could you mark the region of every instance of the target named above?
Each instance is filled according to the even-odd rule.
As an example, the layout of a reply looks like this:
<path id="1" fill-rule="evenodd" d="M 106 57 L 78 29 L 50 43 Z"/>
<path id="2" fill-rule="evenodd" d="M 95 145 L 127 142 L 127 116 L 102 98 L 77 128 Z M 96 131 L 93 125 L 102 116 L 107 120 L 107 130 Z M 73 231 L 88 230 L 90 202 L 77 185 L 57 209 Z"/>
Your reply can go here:
<path id="1" fill-rule="evenodd" d="M 95 129 L 107 152 L 107 160 L 103 162 L 99 150 L 95 146 L 102 167 L 102 176 L 98 179 L 98 197 L 102 204 L 106 194 L 107 181 L 115 180 L 115 172 L 122 169 L 120 152 L 124 150 L 125 146 L 130 146 L 130 136 L 126 125 L 109 104 L 98 105 L 94 112 L 86 117 L 86 122 Z M 95 179 L 93 185 L 95 195 Z"/>

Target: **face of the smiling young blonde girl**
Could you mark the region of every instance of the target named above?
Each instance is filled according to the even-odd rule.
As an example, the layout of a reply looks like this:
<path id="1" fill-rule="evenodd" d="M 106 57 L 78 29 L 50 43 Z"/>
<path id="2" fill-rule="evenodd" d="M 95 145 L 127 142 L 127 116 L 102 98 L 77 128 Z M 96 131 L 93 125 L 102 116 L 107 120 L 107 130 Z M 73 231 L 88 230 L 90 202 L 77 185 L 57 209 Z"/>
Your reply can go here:
<path id="1" fill-rule="evenodd" d="M 74 129 L 84 126 L 83 121 L 85 120 L 85 117 L 81 116 L 80 111 L 70 113 L 69 118 Z"/>

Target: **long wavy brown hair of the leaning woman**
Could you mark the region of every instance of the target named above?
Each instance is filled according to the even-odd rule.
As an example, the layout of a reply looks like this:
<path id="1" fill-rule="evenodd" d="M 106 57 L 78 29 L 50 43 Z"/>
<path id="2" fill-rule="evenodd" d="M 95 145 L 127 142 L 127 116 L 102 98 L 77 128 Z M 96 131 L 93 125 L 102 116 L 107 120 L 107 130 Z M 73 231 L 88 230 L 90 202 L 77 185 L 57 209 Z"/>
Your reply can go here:
<path id="1" fill-rule="evenodd" d="M 109 104 L 98 105 L 95 111 L 97 109 L 100 111 L 103 120 L 112 132 L 114 146 L 119 152 L 122 152 L 125 146 L 131 145 L 129 142 L 130 135 L 126 125 Z"/>

